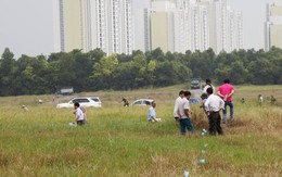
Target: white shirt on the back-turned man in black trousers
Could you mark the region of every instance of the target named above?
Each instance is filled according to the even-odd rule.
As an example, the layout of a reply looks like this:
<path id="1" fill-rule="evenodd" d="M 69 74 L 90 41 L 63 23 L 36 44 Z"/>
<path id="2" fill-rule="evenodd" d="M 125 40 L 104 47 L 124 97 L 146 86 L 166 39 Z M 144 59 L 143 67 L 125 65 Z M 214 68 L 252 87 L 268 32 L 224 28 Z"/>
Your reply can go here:
<path id="1" fill-rule="evenodd" d="M 210 94 L 205 101 L 205 110 L 218 112 L 221 109 L 225 109 L 225 101 L 216 94 Z"/>

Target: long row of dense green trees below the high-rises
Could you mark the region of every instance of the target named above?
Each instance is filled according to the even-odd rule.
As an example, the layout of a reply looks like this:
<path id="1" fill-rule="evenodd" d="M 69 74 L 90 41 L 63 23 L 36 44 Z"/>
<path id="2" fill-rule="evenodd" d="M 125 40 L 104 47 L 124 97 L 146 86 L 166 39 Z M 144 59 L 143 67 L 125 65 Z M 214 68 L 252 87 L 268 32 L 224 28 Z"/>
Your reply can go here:
<path id="1" fill-rule="evenodd" d="M 84 53 L 51 53 L 49 56 L 14 58 L 9 48 L 0 60 L 0 96 L 54 93 L 63 87 L 76 92 L 131 90 L 189 83 L 193 77 L 234 85 L 282 84 L 282 50 L 234 50 L 216 54 L 206 51 L 164 53 L 159 48 L 131 54 L 106 55 L 94 49 Z"/>

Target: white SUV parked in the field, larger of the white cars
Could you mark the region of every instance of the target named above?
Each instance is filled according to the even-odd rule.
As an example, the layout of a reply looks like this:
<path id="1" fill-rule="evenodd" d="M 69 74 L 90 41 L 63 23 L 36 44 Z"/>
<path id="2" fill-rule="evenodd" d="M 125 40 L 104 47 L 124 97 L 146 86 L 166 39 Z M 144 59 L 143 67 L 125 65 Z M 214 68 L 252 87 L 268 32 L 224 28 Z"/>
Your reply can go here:
<path id="1" fill-rule="evenodd" d="M 79 105 L 84 106 L 84 108 L 101 108 L 102 106 L 102 102 L 99 97 L 81 97 L 81 98 L 74 98 L 67 103 L 56 104 L 56 108 L 57 109 L 74 108 L 74 103 L 79 103 Z"/>

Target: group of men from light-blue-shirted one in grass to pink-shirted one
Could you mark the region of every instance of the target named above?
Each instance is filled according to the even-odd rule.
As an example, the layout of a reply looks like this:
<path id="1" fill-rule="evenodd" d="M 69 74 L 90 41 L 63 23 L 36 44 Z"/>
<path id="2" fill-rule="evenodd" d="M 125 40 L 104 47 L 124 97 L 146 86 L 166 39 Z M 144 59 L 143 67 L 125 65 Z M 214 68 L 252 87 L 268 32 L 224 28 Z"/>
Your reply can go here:
<path id="1" fill-rule="evenodd" d="M 218 88 L 216 92 L 215 86 L 211 84 L 210 79 L 206 79 L 206 86 L 203 89 L 201 96 L 203 105 L 203 111 L 208 117 L 208 132 L 209 135 L 223 135 L 221 128 L 221 116 L 220 111 L 223 112 L 223 124 L 228 123 L 227 106 L 230 109 L 230 121 L 234 121 L 234 105 L 232 102 L 232 96 L 234 93 L 234 86 L 230 84 L 229 79 L 225 79 L 223 84 Z M 180 124 L 181 135 L 185 135 L 187 130 L 190 134 L 195 134 L 193 123 L 191 121 L 191 108 L 190 91 L 179 91 L 179 97 L 176 99 L 174 117 Z M 156 118 L 155 113 L 156 103 L 153 101 L 151 108 L 149 109 L 148 121 L 150 122 L 159 122 Z"/>

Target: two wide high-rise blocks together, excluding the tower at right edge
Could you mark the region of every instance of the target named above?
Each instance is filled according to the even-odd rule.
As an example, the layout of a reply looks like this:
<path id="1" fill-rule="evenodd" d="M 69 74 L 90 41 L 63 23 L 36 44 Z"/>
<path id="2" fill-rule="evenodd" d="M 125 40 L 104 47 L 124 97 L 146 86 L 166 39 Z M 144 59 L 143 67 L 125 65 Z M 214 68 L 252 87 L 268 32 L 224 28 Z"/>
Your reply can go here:
<path id="1" fill-rule="evenodd" d="M 54 0 L 55 50 L 107 54 L 161 48 L 185 52 L 213 48 L 216 53 L 243 48 L 242 13 L 226 0 Z"/>

